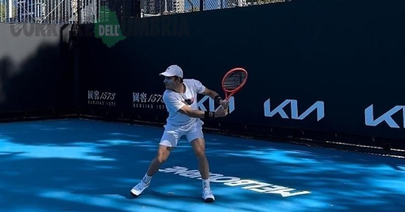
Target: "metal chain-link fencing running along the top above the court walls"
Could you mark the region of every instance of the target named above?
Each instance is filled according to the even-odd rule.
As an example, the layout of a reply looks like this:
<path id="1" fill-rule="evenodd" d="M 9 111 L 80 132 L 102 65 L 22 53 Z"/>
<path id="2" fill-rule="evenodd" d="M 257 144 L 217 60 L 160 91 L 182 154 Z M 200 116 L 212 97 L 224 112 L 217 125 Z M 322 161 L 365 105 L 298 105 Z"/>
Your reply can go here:
<path id="1" fill-rule="evenodd" d="M 0 22 L 96 23 L 106 10 L 123 17 L 245 7 L 291 0 L 0 0 Z"/>

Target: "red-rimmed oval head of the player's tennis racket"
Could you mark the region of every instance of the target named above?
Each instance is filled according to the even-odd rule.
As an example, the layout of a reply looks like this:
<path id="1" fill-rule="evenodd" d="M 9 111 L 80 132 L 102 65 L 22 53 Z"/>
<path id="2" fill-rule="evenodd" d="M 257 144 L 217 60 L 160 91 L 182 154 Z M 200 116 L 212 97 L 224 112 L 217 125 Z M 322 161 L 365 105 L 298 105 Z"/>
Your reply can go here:
<path id="1" fill-rule="evenodd" d="M 248 72 L 242 68 L 229 70 L 222 78 L 222 89 L 225 92 L 225 100 L 239 91 L 248 80 Z"/>

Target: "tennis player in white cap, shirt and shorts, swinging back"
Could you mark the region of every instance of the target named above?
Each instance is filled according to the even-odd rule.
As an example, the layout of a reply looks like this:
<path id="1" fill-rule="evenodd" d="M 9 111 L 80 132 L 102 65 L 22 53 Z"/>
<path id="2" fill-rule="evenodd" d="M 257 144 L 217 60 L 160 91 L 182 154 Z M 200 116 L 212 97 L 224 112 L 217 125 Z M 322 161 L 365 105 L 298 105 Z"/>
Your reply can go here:
<path id="1" fill-rule="evenodd" d="M 200 119 L 225 117 L 228 114 L 228 101 L 223 100 L 217 92 L 206 88 L 197 80 L 183 79 L 183 71 L 177 65 L 169 66 L 165 72 L 159 75 L 165 76 L 166 91 L 163 94 L 163 100 L 169 117 L 156 157 L 150 163 L 141 182 L 131 189 L 131 193 L 138 196 L 149 186 L 152 176 L 168 159 L 170 151 L 177 146 L 179 139 L 185 135 L 198 159 L 198 169 L 203 179 L 203 199 L 205 202 L 213 202 L 215 197 L 210 187 L 210 167 L 205 154 L 205 140 L 202 131 L 204 122 Z M 215 112 L 198 110 L 197 93 L 210 96 L 222 107 Z"/>

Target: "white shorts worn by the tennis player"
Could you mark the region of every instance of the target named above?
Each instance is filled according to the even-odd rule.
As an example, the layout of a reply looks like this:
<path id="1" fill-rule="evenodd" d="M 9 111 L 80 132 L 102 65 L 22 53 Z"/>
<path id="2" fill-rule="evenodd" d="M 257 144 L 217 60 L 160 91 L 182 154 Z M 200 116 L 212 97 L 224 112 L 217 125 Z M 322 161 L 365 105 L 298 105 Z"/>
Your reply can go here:
<path id="1" fill-rule="evenodd" d="M 201 120 L 197 120 L 187 128 L 176 127 L 170 124 L 165 125 L 165 132 L 160 139 L 160 145 L 176 147 L 181 136 L 186 135 L 188 142 L 196 138 L 203 138 L 203 124 Z"/>

